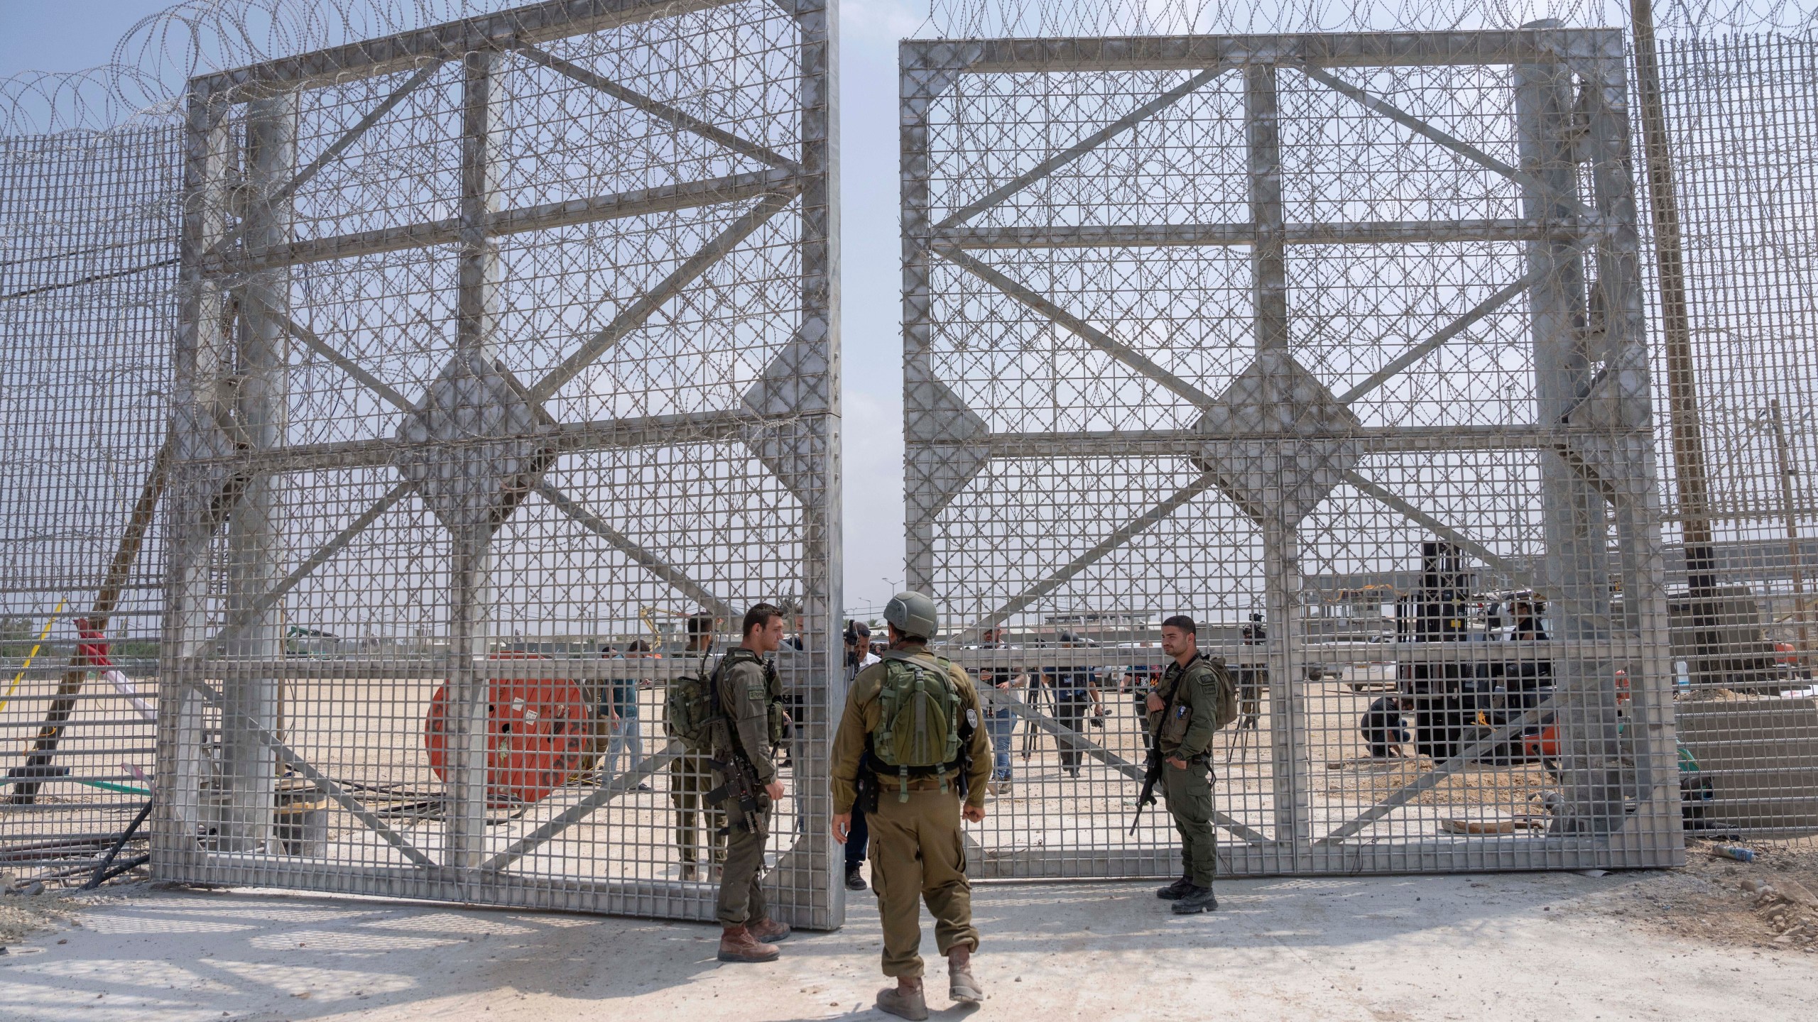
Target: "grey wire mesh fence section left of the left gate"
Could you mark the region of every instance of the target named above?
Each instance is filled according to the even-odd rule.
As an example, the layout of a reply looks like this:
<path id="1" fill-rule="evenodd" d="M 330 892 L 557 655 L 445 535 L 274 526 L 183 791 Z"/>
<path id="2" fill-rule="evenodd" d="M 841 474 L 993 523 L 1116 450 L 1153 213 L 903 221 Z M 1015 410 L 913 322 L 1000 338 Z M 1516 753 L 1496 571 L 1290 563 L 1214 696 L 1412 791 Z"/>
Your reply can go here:
<path id="1" fill-rule="evenodd" d="M 178 162 L 0 138 L 0 871 L 104 857 L 151 795 Z"/>

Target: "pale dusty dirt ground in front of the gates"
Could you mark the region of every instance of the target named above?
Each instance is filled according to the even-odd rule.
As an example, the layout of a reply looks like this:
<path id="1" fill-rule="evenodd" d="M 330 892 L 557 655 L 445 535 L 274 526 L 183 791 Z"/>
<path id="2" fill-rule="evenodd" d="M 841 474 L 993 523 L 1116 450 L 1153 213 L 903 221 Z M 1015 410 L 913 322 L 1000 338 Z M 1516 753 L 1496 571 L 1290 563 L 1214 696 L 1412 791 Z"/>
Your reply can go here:
<path id="1" fill-rule="evenodd" d="M 1229 880 L 1191 918 L 1149 884 L 984 884 L 976 1015 L 1805 1018 L 1818 958 L 1742 882 L 1813 877 L 1814 853 L 1753 844 L 1683 871 Z M 884 1018 L 867 895 L 767 966 L 714 962 L 700 924 L 147 884 L 65 906 L 0 957 L 0 1020 Z M 934 1017 L 967 1015 L 931 977 Z"/>

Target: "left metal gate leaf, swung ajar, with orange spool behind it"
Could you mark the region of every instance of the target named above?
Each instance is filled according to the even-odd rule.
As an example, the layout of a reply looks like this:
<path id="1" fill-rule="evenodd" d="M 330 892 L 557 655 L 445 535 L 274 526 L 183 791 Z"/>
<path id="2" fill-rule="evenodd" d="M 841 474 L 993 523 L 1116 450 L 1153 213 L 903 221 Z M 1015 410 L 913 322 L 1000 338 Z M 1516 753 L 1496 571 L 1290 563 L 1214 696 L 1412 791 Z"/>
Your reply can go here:
<path id="1" fill-rule="evenodd" d="M 158 875 L 709 918 L 667 678 L 785 607 L 838 926 L 833 18 L 564 0 L 189 84 Z"/>

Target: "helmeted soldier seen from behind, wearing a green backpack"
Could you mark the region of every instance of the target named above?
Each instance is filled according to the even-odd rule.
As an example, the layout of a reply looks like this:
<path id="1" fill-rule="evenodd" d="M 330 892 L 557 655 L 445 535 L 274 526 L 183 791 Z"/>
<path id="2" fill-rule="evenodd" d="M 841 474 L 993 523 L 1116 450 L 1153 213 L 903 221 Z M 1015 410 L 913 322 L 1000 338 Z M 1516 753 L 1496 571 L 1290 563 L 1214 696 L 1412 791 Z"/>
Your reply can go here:
<path id="1" fill-rule="evenodd" d="M 889 649 L 853 678 L 833 736 L 833 840 L 845 844 L 860 771 L 871 826 L 871 887 L 884 924 L 878 1007 L 927 1018 L 922 984 L 922 906 L 934 915 L 934 940 L 947 957 L 947 997 L 984 998 L 973 978 L 973 886 L 965 877 L 960 820 L 985 818 L 991 740 L 980 724 L 978 691 L 958 666 L 927 651 L 940 631 L 934 600 L 898 593 L 884 607 Z"/>

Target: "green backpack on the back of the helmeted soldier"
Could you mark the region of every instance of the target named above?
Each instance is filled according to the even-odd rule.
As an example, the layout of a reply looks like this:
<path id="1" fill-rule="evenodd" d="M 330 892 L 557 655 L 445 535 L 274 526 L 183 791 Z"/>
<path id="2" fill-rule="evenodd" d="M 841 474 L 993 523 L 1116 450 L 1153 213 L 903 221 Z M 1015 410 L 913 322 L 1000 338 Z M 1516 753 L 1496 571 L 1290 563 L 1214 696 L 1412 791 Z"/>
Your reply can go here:
<path id="1" fill-rule="evenodd" d="M 909 800 L 909 777 L 940 773 L 947 789 L 947 767 L 960 758 L 960 689 L 949 662 L 938 667 L 889 651 L 884 655 L 884 687 L 878 689 L 878 729 L 871 747 L 878 762 L 902 780 L 900 800 Z"/>

